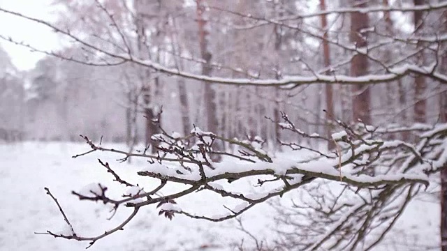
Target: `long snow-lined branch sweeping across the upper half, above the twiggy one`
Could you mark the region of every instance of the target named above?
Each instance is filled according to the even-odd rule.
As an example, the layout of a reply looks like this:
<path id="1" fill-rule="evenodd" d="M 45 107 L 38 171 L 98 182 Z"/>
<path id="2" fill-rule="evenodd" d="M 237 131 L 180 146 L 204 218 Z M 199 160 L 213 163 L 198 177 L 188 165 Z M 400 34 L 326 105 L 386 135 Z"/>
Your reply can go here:
<path id="1" fill-rule="evenodd" d="M 437 8 L 444 8 L 446 6 L 446 3 L 439 3 L 437 5 L 432 6 L 415 6 L 408 9 L 410 10 L 416 10 L 418 8 L 421 9 L 437 9 Z M 105 13 L 108 14 L 110 17 L 110 13 L 105 10 L 103 6 L 101 6 L 101 10 L 105 11 Z M 374 11 L 374 8 L 367 9 Z M 365 10 L 365 11 L 367 11 Z M 352 10 L 346 9 L 342 10 L 344 12 L 348 11 L 359 11 L 356 8 L 353 8 Z M 376 10 L 379 11 L 379 10 Z M 396 10 L 397 11 L 397 10 Z M 403 9 L 401 11 L 404 11 Z M 405 10 L 406 11 L 406 10 Z M 311 75 L 281 75 L 280 79 L 256 79 L 256 78 L 231 78 L 231 77 L 213 77 L 213 76 L 207 76 L 207 75 L 201 75 L 196 73 L 191 73 L 188 71 L 180 70 L 179 68 L 171 68 L 169 66 L 164 66 L 161 63 L 156 63 L 155 61 L 149 60 L 149 59 L 140 59 L 140 56 L 133 54 L 129 50 L 129 45 L 127 43 L 127 39 L 124 37 L 122 32 L 119 32 L 121 42 L 123 43 L 124 47 L 121 48 L 121 50 L 113 50 L 108 49 L 106 47 L 101 47 L 100 45 L 96 45 L 92 43 L 89 40 L 86 40 L 82 36 L 78 36 L 75 34 L 75 32 L 70 31 L 68 29 L 62 29 L 58 26 L 51 24 L 50 22 L 47 22 L 45 20 L 40 20 L 34 17 L 29 17 L 27 15 L 24 15 L 22 13 L 17 13 L 11 10 L 6 10 L 4 8 L 0 8 L 0 12 L 6 13 L 8 15 L 14 15 L 16 17 L 23 18 L 25 20 L 29 20 L 32 22 L 37 22 L 39 24 L 42 24 L 44 26 L 47 26 L 48 28 L 52 29 L 52 31 L 61 34 L 65 38 L 68 38 L 69 40 L 72 40 L 73 43 L 78 44 L 80 47 L 83 48 L 85 52 L 90 52 L 91 58 L 89 56 L 84 55 L 82 59 L 78 59 L 73 56 L 66 56 L 59 52 L 49 52 L 45 50 L 39 50 L 38 48 L 35 48 L 27 43 L 23 42 L 17 42 L 16 40 L 13 40 L 13 38 L 7 38 L 5 36 L 1 36 L 0 38 L 3 40 L 6 40 L 10 43 L 15 43 L 17 45 L 21 45 L 24 47 L 29 48 L 30 50 L 33 50 L 35 52 L 41 52 L 50 56 L 56 56 L 60 59 L 68 60 L 68 61 L 74 61 L 76 63 L 84 63 L 90 66 L 117 66 L 122 63 L 130 62 L 135 63 L 136 65 L 151 68 L 152 70 L 155 70 L 159 73 L 164 73 L 166 75 L 175 75 L 179 77 L 183 77 L 186 79 L 194 79 L 198 80 L 203 83 L 217 83 L 217 84 L 227 84 L 227 85 L 246 85 L 246 86 L 282 86 L 284 89 L 293 89 L 297 86 L 301 86 L 302 84 L 376 84 L 376 83 L 383 83 L 383 82 L 393 82 L 397 79 L 401 79 L 402 77 L 406 77 L 408 75 L 422 75 L 425 77 L 430 77 L 437 82 L 440 82 L 441 84 L 447 84 L 447 75 L 439 72 L 437 70 L 437 64 L 432 66 L 417 66 L 414 63 L 400 63 L 398 66 L 385 66 L 380 61 L 374 59 L 372 56 L 369 55 L 369 50 L 363 50 L 365 48 L 357 48 L 353 47 L 352 45 L 344 45 L 342 43 L 339 43 L 339 41 L 332 41 L 327 40 L 330 43 L 333 43 L 334 45 L 337 45 L 338 47 L 341 47 L 344 50 L 350 50 L 354 54 L 366 54 L 368 58 L 376 63 L 379 63 L 382 66 L 382 69 L 380 72 L 376 72 L 374 74 L 369 75 L 363 75 L 360 77 L 352 77 L 349 75 L 338 75 L 338 74 L 332 74 L 332 75 L 323 75 L 320 73 L 316 73 L 316 71 L 313 71 Z M 321 15 L 321 14 L 318 14 Z M 252 17 L 253 18 L 253 17 Z M 271 24 L 277 24 L 277 21 L 274 20 L 268 20 Z M 121 31 L 117 24 L 113 22 L 111 26 L 114 26 L 115 29 L 118 31 Z M 293 27 L 291 27 L 293 28 Z M 321 36 L 319 36 L 317 33 L 312 33 L 311 31 L 305 31 L 301 30 L 301 32 L 305 32 L 309 36 L 313 36 L 317 39 L 323 39 Z M 324 40 L 324 39 L 323 39 Z M 414 38 L 408 38 L 406 40 L 407 43 L 411 44 L 414 43 Z M 435 40 L 434 44 L 438 43 L 439 40 Z M 110 42 L 112 43 L 112 42 Z M 113 42 L 112 44 L 115 45 L 117 42 Z M 384 44 L 388 44 L 389 41 L 386 41 Z M 123 53 L 124 51 L 124 53 Z"/>

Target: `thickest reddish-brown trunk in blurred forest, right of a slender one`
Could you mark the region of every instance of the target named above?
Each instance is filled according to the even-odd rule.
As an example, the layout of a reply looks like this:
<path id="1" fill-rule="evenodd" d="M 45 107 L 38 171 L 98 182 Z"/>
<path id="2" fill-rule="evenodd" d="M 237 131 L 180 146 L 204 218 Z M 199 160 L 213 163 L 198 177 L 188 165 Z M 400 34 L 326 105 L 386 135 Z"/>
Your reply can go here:
<path id="1" fill-rule="evenodd" d="M 367 7 L 365 1 L 354 0 L 356 7 Z M 367 28 L 369 24 L 369 19 L 367 13 L 352 13 L 351 14 L 351 42 L 353 42 L 356 47 L 364 48 L 367 47 L 367 36 L 366 33 L 362 33 L 362 29 Z M 363 54 L 356 54 L 353 56 L 351 61 L 351 75 L 352 76 L 362 76 L 367 74 L 368 69 L 368 59 L 367 56 Z M 369 102 L 370 93 L 369 86 L 364 84 L 357 84 L 353 86 L 353 119 L 356 121 L 360 119 L 361 121 L 370 124 L 371 118 L 369 116 Z"/>

